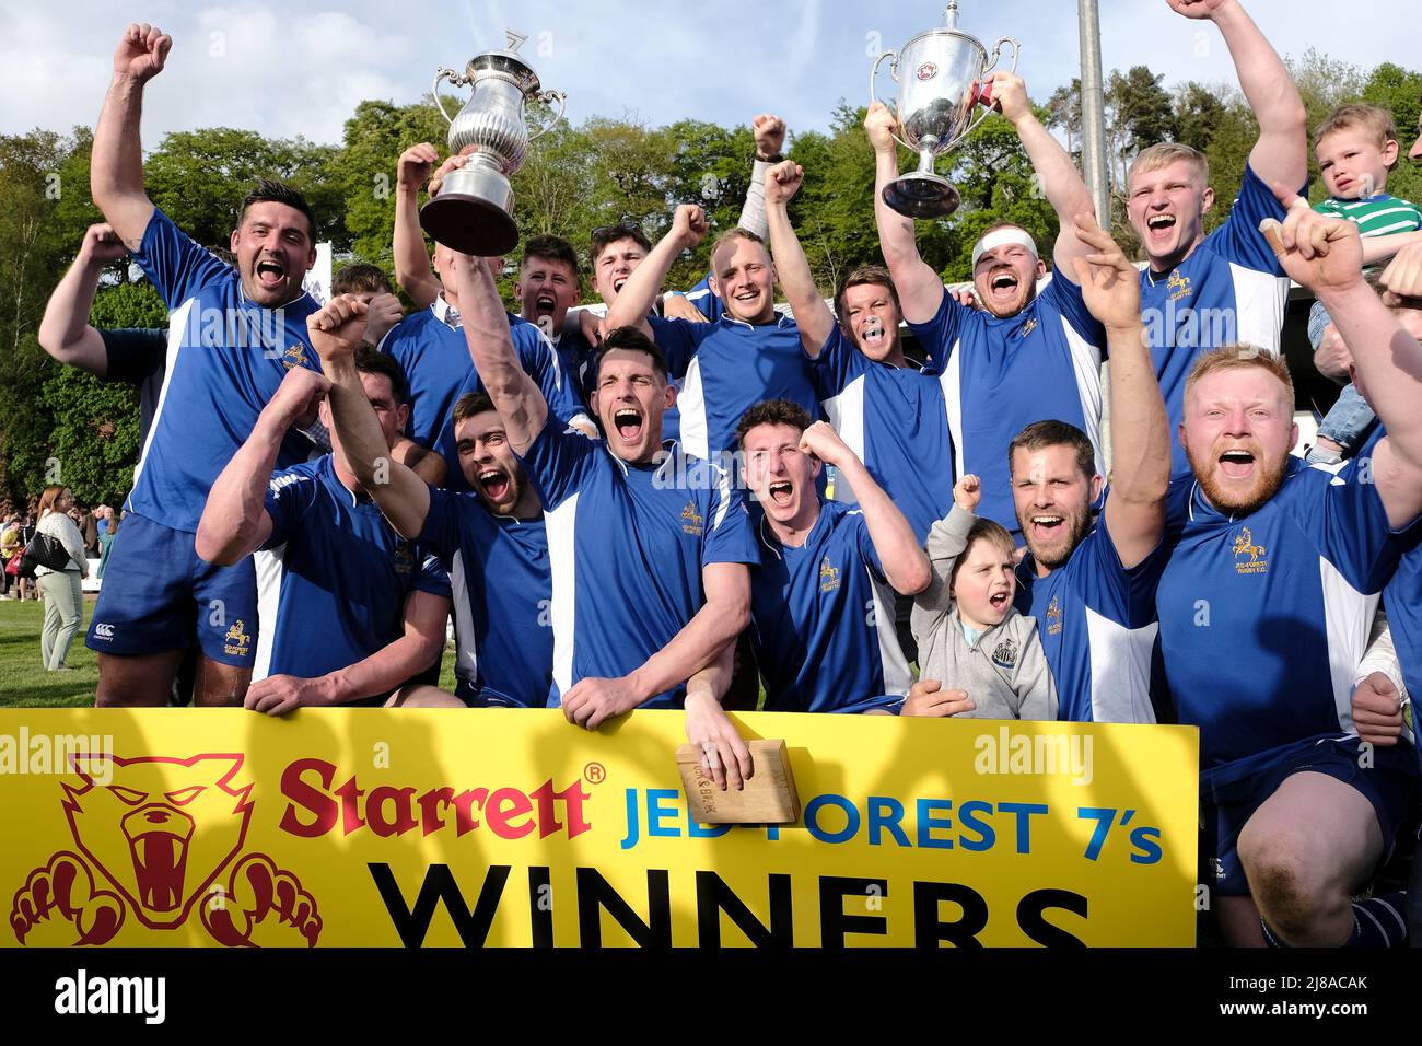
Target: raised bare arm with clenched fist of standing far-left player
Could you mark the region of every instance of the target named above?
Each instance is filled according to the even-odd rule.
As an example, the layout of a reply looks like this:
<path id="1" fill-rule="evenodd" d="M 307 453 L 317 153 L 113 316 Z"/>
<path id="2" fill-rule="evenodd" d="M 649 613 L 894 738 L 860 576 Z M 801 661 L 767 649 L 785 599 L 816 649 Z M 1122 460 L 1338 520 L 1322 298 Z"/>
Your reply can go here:
<path id="1" fill-rule="evenodd" d="M 154 204 L 144 192 L 144 148 L 138 135 L 144 85 L 162 73 L 172 46 L 172 37 L 148 23 L 124 30 L 114 51 L 114 78 L 94 128 L 90 192 L 129 250 L 142 246 L 148 219 L 154 216 Z"/>

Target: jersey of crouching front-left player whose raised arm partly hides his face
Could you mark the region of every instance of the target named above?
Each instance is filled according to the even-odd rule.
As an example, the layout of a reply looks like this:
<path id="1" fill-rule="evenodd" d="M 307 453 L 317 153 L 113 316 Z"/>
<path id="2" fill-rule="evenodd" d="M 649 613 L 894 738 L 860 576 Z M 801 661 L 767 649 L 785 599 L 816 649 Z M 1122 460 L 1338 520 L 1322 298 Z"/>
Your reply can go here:
<path id="1" fill-rule="evenodd" d="M 314 679 L 363 662 L 405 632 L 405 598 L 449 598 L 449 575 L 385 522 L 334 458 L 272 474 L 272 535 L 256 554 L 257 650 L 252 679 Z"/>

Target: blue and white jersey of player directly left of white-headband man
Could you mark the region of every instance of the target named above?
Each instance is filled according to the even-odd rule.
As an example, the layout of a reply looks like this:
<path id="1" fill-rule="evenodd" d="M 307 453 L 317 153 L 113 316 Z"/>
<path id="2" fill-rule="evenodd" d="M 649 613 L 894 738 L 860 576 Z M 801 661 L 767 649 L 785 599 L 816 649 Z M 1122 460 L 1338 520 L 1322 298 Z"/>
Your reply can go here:
<path id="1" fill-rule="evenodd" d="M 926 541 L 934 521 L 953 508 L 944 379 L 870 360 L 838 323 L 811 361 L 811 377 L 835 431 Z M 843 480 L 835 484 L 835 500 L 855 501 Z"/>

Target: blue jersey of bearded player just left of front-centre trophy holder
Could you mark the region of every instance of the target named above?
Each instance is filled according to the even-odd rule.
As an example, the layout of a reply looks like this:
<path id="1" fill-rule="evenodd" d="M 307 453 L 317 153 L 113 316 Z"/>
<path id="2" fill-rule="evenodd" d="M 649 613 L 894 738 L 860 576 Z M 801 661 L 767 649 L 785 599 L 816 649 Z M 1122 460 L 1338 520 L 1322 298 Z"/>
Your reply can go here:
<path id="1" fill-rule="evenodd" d="M 478 494 L 431 487 L 419 542 L 454 585 L 455 675 L 512 704 L 547 704 L 553 582 L 543 518 L 493 515 Z"/>

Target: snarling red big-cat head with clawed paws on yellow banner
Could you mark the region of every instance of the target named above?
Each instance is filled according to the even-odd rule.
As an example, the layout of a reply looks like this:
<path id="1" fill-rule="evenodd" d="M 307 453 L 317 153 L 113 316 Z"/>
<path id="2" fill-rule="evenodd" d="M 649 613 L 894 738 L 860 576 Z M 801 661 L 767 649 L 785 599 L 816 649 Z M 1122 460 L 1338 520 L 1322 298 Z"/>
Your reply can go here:
<path id="1" fill-rule="evenodd" d="M 243 756 L 70 757 L 61 783 L 77 852 L 61 850 L 16 891 L 10 926 L 23 945 L 101 945 L 128 915 L 152 931 L 198 908 L 219 944 L 314 945 L 316 901 L 264 854 L 239 857 L 252 818 Z M 201 902 L 201 904 L 199 904 Z"/>

